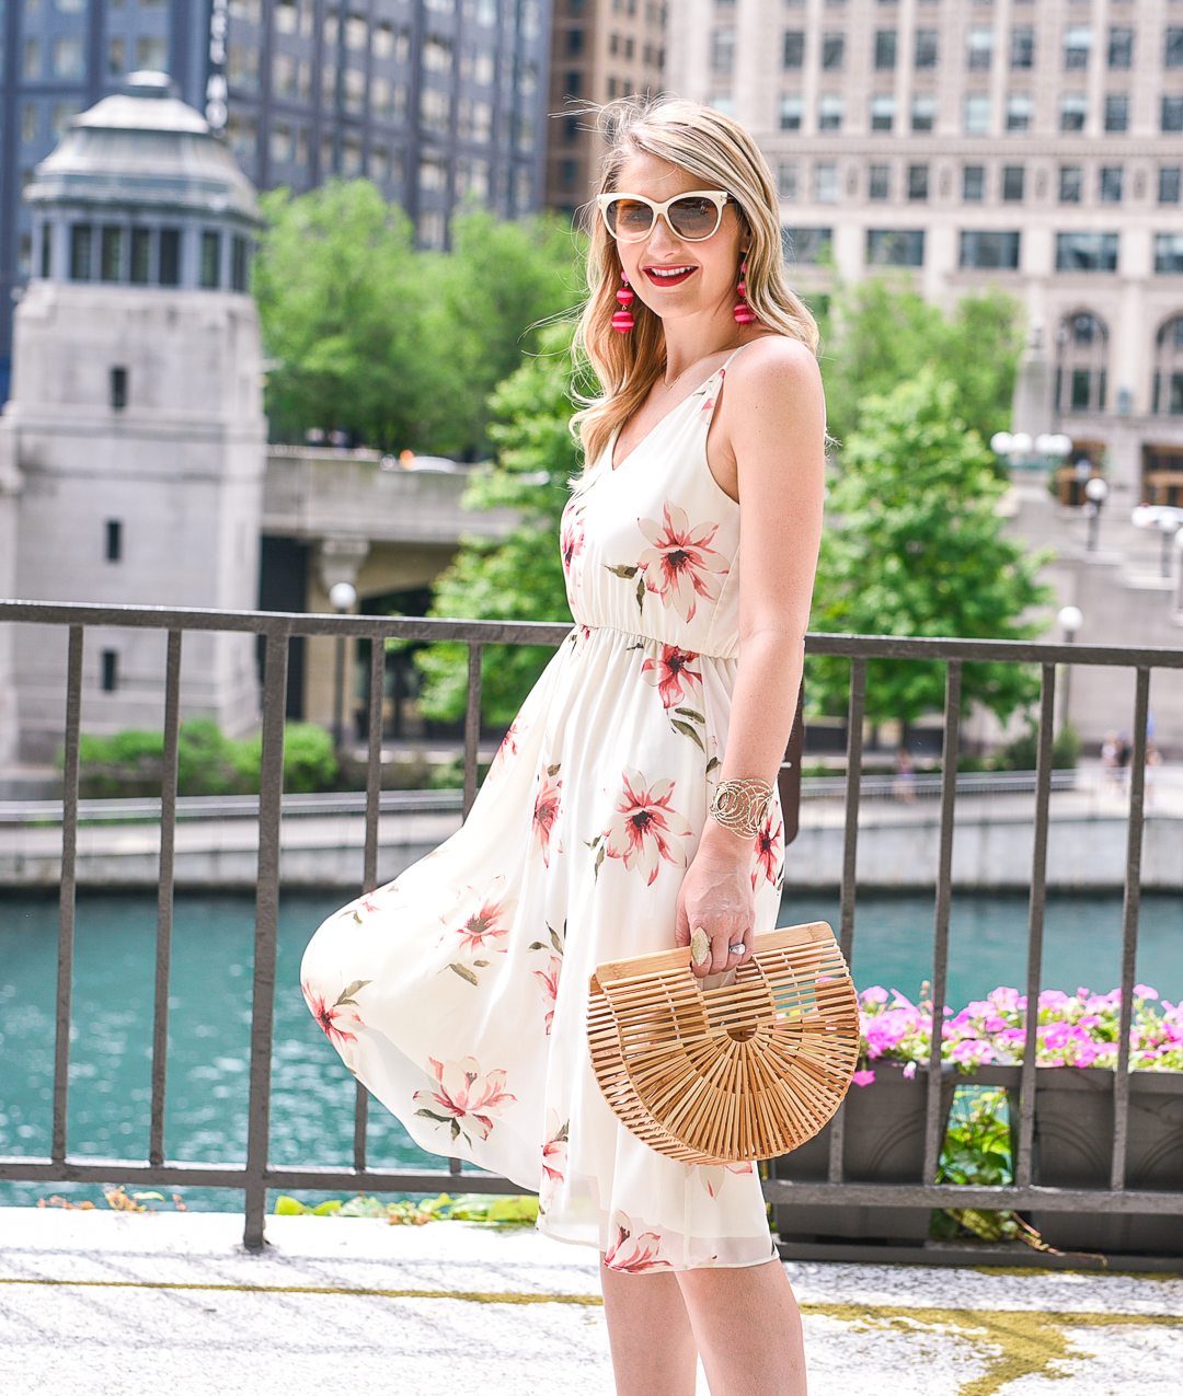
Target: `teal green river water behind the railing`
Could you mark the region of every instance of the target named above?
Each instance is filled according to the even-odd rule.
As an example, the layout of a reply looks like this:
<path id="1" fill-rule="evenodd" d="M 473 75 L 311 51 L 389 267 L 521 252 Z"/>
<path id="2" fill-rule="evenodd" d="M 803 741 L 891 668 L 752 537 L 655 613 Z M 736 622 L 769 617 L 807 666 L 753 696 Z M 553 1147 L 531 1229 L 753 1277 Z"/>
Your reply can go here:
<path id="1" fill-rule="evenodd" d="M 353 1081 L 313 1023 L 297 983 L 304 944 L 341 900 L 292 895 L 281 903 L 271 1134 L 277 1164 L 345 1164 L 352 1157 Z M 253 900 L 244 896 L 177 899 L 165 1139 L 170 1159 L 246 1157 L 253 917 Z M 831 898 L 793 896 L 785 900 L 781 923 L 837 926 L 837 917 Z M 78 900 L 71 1154 L 147 1157 L 155 924 L 152 896 Z M 858 986 L 886 984 L 915 997 L 932 974 L 932 898 L 862 899 L 853 955 Z M 1112 988 L 1120 933 L 1120 896 L 1052 898 L 1045 986 Z M 0 1153 L 49 1153 L 56 942 L 52 899 L 0 896 Z M 1025 963 L 1024 898 L 954 898 L 948 990 L 954 1008 L 997 984 L 1020 986 Z M 1144 898 L 1138 980 L 1168 998 L 1183 997 L 1183 896 Z M 372 1107 L 369 1148 L 376 1166 L 439 1166 L 379 1104 Z M 99 1198 L 94 1187 L 0 1182 L 0 1205 L 32 1203 L 53 1192 Z M 242 1194 L 235 1191 L 187 1188 L 183 1196 L 196 1209 L 242 1209 Z"/>

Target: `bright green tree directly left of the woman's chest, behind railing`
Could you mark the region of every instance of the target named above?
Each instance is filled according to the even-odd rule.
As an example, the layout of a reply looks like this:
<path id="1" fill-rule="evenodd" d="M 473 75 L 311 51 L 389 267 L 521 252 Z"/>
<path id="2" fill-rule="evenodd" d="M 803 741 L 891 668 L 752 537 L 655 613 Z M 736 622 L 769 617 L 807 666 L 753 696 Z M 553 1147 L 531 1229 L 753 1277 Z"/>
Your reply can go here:
<path id="1" fill-rule="evenodd" d="M 433 616 L 460 620 L 570 621 L 559 519 L 568 498 L 568 479 L 580 469 L 570 431 L 571 353 L 566 331 L 548 336 L 548 348 L 513 373 L 492 398 L 496 420 L 489 436 L 496 465 L 479 473 L 464 496 L 469 510 L 511 508 L 518 524 L 500 539 L 478 533 L 462 539 L 451 567 L 439 578 Z M 464 713 L 468 683 L 466 645 L 429 645 L 415 656 L 423 673 L 420 704 L 429 718 Z M 510 722 L 546 667 L 553 649 L 543 645 L 487 645 L 482 662 L 482 711 L 489 722 Z"/>

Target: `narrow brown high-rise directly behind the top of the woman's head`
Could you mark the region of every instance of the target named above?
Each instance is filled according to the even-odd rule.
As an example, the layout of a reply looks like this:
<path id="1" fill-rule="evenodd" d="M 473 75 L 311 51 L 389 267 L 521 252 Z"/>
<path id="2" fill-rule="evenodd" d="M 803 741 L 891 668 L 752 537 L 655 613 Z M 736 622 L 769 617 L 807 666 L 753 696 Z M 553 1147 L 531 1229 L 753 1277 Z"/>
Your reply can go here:
<path id="1" fill-rule="evenodd" d="M 589 105 L 658 92 L 665 0 L 554 0 L 546 205 L 568 218 L 592 194 L 602 142 Z"/>

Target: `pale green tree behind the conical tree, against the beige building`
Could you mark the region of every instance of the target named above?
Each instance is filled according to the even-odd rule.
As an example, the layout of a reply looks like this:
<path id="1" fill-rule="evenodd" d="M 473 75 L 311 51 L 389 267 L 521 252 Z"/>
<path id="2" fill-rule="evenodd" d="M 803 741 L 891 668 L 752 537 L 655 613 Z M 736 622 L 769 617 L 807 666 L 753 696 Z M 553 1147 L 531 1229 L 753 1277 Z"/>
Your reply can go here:
<path id="1" fill-rule="evenodd" d="M 934 366 L 954 385 L 954 410 L 983 441 L 1010 424 L 1022 307 L 1000 290 L 964 296 L 946 318 L 906 282 L 839 286 L 817 307 L 831 436 L 846 441 L 865 403 Z"/>

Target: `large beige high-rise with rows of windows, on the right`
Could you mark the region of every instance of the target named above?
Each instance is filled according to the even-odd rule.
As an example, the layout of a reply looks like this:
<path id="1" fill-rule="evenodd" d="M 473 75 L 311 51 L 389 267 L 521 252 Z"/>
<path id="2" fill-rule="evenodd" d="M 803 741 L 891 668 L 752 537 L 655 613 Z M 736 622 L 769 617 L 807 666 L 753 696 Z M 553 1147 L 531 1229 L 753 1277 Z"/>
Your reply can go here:
<path id="1" fill-rule="evenodd" d="M 682 0 L 669 52 L 760 141 L 803 289 L 1011 290 L 1017 429 L 1183 504 L 1180 0 Z"/>

